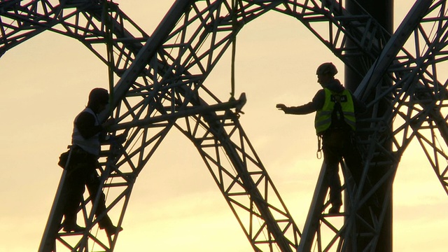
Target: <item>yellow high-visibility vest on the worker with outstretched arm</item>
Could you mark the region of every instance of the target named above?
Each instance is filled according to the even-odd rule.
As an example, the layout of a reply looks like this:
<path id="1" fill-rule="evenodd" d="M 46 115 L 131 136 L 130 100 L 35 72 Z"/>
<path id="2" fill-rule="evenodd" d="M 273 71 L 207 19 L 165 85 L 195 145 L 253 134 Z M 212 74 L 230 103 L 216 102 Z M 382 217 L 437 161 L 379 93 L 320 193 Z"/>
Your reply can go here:
<path id="1" fill-rule="evenodd" d="M 341 104 L 345 123 L 351 127 L 351 130 L 356 130 L 355 106 L 349 90 L 342 92 L 333 92 L 328 88 L 323 88 L 323 90 L 325 91 L 325 103 L 322 109 L 316 112 L 316 119 L 314 120 L 316 134 L 322 134 L 330 127 L 331 115 L 337 102 Z"/>

